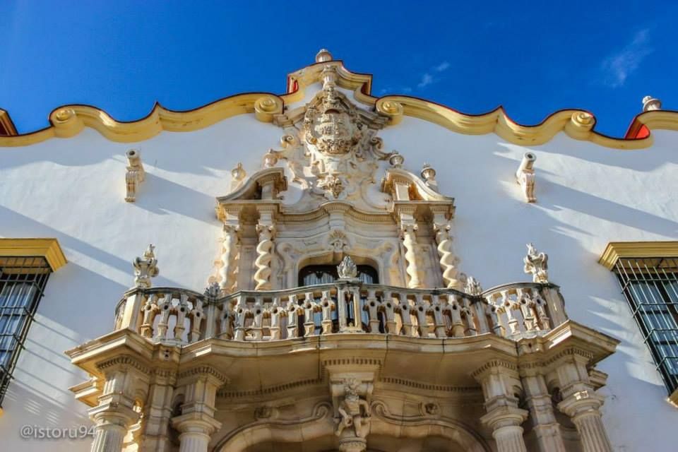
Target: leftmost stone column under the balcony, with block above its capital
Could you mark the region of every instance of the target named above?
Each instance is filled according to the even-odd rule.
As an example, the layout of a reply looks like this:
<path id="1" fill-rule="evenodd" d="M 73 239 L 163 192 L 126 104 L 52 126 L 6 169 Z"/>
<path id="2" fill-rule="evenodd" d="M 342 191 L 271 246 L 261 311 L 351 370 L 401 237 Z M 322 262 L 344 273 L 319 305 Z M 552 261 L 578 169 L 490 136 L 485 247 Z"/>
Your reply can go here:
<path id="1" fill-rule="evenodd" d="M 138 422 L 135 394 L 148 390 L 148 369 L 131 357 L 120 356 L 98 364 L 105 383 L 99 405 L 89 410 L 95 422 L 92 452 L 121 452 L 129 428 Z"/>

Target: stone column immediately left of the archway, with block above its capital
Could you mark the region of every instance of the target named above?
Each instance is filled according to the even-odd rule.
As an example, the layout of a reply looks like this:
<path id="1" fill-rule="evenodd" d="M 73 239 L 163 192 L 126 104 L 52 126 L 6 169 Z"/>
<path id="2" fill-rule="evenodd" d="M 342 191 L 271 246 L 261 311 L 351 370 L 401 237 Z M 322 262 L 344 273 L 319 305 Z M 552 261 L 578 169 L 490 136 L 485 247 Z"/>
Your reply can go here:
<path id="1" fill-rule="evenodd" d="M 211 435 L 221 428 L 215 420 L 217 390 L 227 378 L 209 366 L 196 367 L 179 374 L 177 386 L 185 387 L 182 414 L 172 418 L 179 430 L 179 452 L 207 452 Z"/>

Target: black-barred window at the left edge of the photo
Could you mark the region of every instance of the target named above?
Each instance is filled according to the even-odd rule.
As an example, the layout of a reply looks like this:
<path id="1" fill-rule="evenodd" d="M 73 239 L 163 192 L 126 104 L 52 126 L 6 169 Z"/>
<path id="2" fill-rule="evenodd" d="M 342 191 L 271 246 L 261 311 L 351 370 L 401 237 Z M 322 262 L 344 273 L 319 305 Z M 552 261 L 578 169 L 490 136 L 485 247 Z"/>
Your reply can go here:
<path id="1" fill-rule="evenodd" d="M 0 406 L 50 272 L 42 257 L 0 257 Z"/>

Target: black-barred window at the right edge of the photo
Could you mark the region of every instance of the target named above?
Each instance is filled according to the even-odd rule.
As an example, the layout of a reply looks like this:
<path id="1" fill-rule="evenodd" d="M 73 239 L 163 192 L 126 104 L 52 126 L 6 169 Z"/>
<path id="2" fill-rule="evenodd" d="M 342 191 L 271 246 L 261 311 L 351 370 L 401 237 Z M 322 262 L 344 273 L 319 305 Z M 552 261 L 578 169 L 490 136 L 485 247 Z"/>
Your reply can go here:
<path id="1" fill-rule="evenodd" d="M 678 258 L 619 258 L 614 272 L 671 394 L 678 388 Z"/>

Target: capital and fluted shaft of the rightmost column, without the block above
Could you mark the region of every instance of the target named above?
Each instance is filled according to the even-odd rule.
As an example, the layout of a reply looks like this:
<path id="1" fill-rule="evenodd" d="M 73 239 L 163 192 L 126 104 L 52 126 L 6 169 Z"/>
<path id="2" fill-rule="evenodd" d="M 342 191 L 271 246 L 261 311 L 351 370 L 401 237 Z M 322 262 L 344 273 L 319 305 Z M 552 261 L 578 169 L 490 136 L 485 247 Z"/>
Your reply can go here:
<path id="1" fill-rule="evenodd" d="M 601 405 L 602 397 L 588 389 L 572 393 L 558 404 L 558 409 L 571 417 L 577 427 L 584 452 L 612 452 L 602 424 Z"/>

